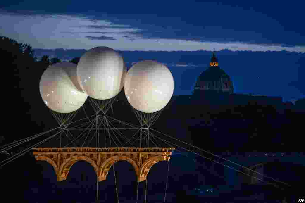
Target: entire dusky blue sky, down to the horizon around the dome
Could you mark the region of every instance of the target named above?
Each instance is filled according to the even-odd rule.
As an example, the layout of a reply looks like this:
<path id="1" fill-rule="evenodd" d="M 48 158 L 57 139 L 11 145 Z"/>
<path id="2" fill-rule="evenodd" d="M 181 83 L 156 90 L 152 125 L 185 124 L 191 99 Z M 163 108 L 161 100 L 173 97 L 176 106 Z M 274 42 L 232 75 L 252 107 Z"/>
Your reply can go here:
<path id="1" fill-rule="evenodd" d="M 171 68 L 175 95 L 191 94 L 198 75 L 210 60 L 206 53 L 194 53 L 197 55 L 191 57 L 186 51 L 227 49 L 219 54 L 220 65 L 231 76 L 237 93 L 282 96 L 285 101 L 302 98 L 305 92 L 304 4 L 2 1 L 0 35 L 42 49 L 88 50 L 107 46 L 126 51 L 185 51 L 165 61 L 164 57 L 148 52 L 151 57 L 147 59 L 196 65 Z M 70 52 L 66 54 L 72 57 Z M 129 56 L 132 54 L 124 60 L 144 59 Z"/>

